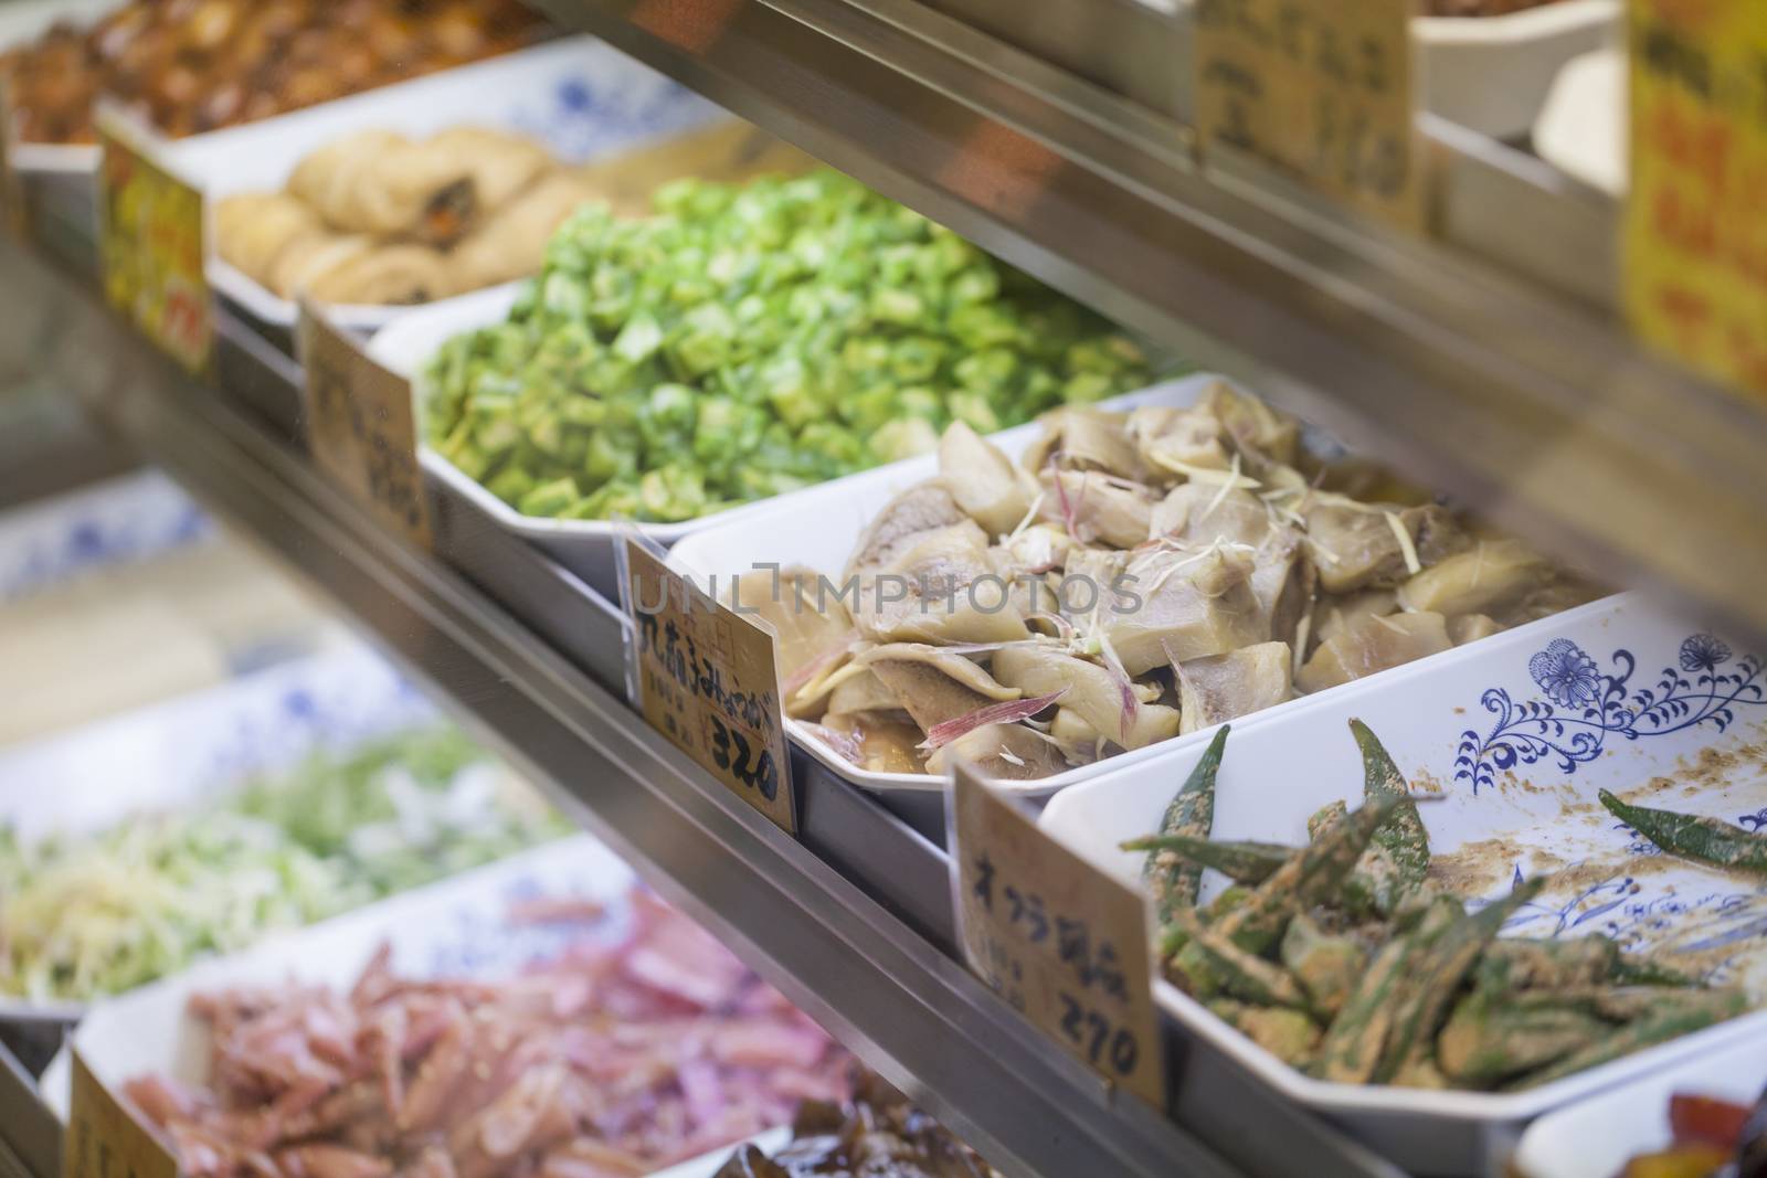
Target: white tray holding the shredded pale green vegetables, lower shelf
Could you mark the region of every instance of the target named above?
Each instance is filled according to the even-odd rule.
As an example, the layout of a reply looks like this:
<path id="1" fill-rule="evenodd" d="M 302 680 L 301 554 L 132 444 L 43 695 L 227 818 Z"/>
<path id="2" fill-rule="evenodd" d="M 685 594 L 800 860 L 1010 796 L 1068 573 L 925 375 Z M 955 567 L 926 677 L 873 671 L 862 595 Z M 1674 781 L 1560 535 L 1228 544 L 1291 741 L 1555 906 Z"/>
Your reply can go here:
<path id="1" fill-rule="evenodd" d="M 0 823 L 25 841 L 102 830 L 140 811 L 198 807 L 318 747 L 438 722 L 391 664 L 350 645 L 7 749 Z M 85 1003 L 0 994 L 0 1021 L 72 1023 L 83 1012 Z"/>

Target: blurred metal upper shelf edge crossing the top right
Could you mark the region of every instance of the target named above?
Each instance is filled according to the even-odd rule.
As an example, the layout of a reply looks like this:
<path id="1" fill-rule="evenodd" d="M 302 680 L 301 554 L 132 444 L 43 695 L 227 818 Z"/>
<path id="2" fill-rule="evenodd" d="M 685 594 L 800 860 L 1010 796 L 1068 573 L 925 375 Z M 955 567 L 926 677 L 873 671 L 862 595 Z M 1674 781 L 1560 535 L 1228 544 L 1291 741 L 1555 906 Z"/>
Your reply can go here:
<path id="1" fill-rule="evenodd" d="M 541 4 L 1557 558 L 1767 636 L 1767 412 L 1633 343 L 1612 208 L 1514 152 L 1424 120 L 1442 237 L 1407 238 L 1203 177 L 1159 74 L 1184 25 L 1127 0 Z"/>

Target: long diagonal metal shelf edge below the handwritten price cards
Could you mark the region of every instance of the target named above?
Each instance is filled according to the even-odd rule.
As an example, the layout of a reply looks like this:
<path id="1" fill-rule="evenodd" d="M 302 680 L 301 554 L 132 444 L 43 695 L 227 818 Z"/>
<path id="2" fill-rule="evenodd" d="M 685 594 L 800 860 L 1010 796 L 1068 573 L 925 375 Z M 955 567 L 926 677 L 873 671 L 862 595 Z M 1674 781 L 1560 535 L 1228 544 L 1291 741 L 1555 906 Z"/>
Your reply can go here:
<path id="1" fill-rule="evenodd" d="M 219 323 L 217 371 L 258 383 L 251 399 L 184 374 L 88 283 L 12 240 L 0 242 L 0 286 L 30 293 L 0 316 L 0 360 L 55 381 L 337 600 L 573 819 L 1007 1173 L 1394 1173 L 1196 1040 L 1175 1038 L 1170 1053 L 1175 1121 L 1108 1090 L 873 899 L 864 872 L 850 878 L 779 832 L 558 645 L 376 528 L 286 427 L 249 408 L 299 403 L 286 385 L 297 373 L 239 323 Z M 55 1121 L 11 1070 L 0 1072 L 0 1143 L 11 1150 L 0 1167 L 58 1173 Z"/>

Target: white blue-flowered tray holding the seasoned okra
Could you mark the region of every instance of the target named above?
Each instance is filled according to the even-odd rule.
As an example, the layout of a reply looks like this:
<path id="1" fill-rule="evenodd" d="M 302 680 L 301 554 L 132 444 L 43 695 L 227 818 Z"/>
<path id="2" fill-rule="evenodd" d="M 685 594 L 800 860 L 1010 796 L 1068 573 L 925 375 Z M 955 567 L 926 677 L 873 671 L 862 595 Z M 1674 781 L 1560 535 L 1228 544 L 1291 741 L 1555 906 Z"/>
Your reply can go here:
<path id="1" fill-rule="evenodd" d="M 1414 788 L 1447 795 L 1422 807 L 1422 819 L 1438 862 L 1458 855 L 1444 864 L 1456 890 L 1500 895 L 1516 871 L 1580 867 L 1573 885 L 1539 897 L 1505 931 L 1604 933 L 1670 964 L 1696 952 L 1695 968 L 1767 996 L 1767 885 L 1663 857 L 1596 804 L 1599 788 L 1631 795 L 1652 777 L 1682 777 L 1689 784 L 1663 791 L 1657 805 L 1767 819 L 1758 655 L 1633 595 L 1581 606 L 1235 721 L 1214 835 L 1301 844 L 1320 805 L 1359 804 L 1352 717 L 1373 728 Z M 1157 828 L 1198 742 L 1067 789 L 1044 811 L 1044 832 L 1136 881 L 1141 857 L 1117 844 Z M 1205 878 L 1205 895 L 1221 883 Z M 1532 1091 L 1419 1091 L 1309 1079 L 1177 987 L 1157 982 L 1156 998 L 1281 1093 L 1422 1174 L 1491 1173 L 1541 1113 L 1767 1031 L 1767 1012 L 1756 1010 Z"/>

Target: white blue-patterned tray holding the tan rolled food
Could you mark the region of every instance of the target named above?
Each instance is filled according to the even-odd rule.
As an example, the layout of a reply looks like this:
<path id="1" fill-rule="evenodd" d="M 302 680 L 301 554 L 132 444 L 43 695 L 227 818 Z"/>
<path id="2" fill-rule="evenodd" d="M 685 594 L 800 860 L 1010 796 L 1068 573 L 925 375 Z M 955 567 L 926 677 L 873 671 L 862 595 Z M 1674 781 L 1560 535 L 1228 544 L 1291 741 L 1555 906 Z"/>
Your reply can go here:
<path id="1" fill-rule="evenodd" d="M 281 189 L 309 152 L 368 127 L 413 138 L 456 125 L 512 131 L 569 164 L 691 131 L 721 108 L 594 37 L 565 37 L 484 62 L 168 145 L 166 155 L 209 200 Z M 210 258 L 209 281 L 260 321 L 293 327 L 295 304 Z M 429 304 L 447 306 L 454 300 Z M 332 306 L 332 318 L 375 330 L 412 307 Z"/>

